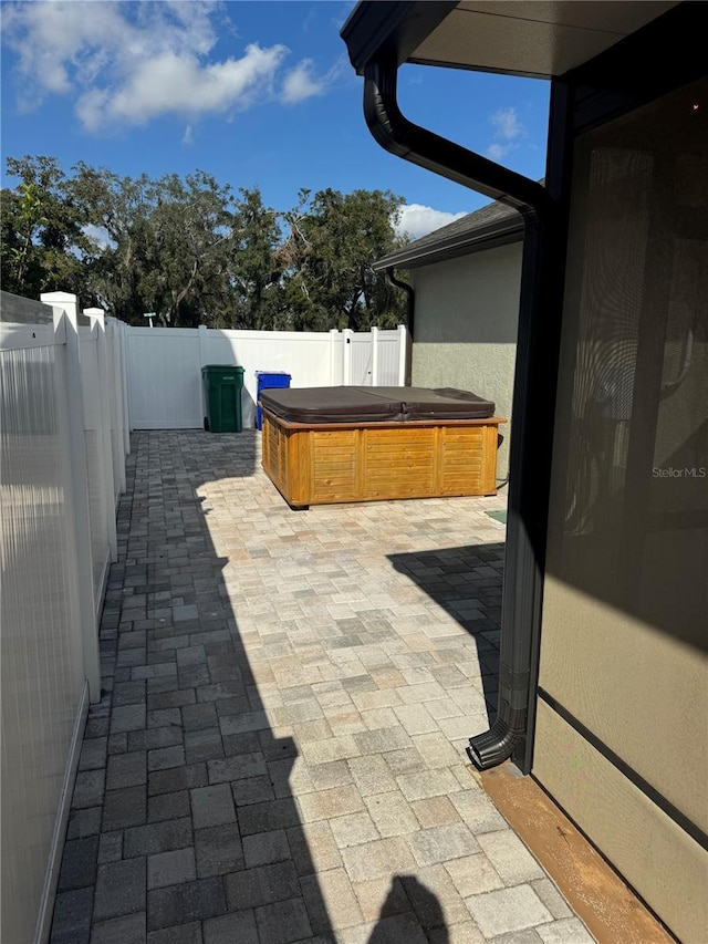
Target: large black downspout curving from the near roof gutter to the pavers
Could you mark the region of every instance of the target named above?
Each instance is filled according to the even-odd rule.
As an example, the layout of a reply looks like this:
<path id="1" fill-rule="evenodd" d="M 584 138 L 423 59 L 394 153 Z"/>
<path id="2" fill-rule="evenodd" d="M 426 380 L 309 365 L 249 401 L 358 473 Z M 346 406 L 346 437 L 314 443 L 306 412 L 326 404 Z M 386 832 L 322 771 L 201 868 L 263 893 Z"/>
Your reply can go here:
<path id="1" fill-rule="evenodd" d="M 470 738 L 468 754 L 483 770 L 521 753 L 529 772 L 527 726 L 538 668 L 563 283 L 558 193 L 409 122 L 396 101 L 395 63 L 369 63 L 364 77 L 364 115 L 382 147 L 512 206 L 524 221 L 499 705 L 492 727 Z"/>

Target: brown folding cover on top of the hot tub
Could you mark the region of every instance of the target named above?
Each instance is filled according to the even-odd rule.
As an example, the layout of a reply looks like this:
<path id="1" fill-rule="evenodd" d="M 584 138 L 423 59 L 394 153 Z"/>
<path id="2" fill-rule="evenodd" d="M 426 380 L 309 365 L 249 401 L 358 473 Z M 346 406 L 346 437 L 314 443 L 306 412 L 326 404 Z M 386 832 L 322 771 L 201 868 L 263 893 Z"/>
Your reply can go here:
<path id="1" fill-rule="evenodd" d="M 261 392 L 261 405 L 290 423 L 385 423 L 488 419 L 494 404 L 469 391 L 441 387 L 284 387 Z"/>

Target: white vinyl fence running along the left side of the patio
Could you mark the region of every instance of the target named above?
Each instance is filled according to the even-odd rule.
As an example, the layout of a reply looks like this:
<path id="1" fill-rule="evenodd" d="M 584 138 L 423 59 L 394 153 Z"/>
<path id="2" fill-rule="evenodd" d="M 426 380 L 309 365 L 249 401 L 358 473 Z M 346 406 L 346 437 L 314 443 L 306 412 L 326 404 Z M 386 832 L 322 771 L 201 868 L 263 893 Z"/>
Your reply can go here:
<path id="1" fill-rule="evenodd" d="M 123 325 L 42 302 L 0 298 L 0 938 L 18 944 L 49 935 L 127 452 Z"/>

